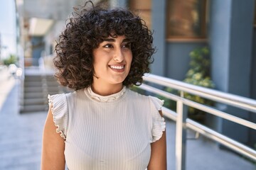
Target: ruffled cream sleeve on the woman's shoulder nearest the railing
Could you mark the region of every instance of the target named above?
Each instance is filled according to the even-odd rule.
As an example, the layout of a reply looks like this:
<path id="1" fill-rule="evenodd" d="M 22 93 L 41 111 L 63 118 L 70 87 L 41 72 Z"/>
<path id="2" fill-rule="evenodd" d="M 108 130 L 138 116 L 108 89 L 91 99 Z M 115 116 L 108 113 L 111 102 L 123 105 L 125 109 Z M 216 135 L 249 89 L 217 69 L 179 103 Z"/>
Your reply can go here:
<path id="1" fill-rule="evenodd" d="M 166 123 L 164 118 L 161 117 L 159 111 L 164 104 L 164 101 L 159 100 L 159 98 L 149 96 L 150 106 L 151 106 L 151 117 L 152 117 L 152 129 L 151 129 L 151 142 L 156 142 L 163 135 L 166 128 Z"/>

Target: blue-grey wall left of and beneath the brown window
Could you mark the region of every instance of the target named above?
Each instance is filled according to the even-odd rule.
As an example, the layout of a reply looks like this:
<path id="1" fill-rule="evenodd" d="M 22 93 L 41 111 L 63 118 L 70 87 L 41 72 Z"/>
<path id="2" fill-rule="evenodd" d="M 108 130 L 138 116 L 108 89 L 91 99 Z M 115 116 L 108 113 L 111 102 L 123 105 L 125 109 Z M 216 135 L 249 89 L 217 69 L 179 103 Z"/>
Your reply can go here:
<path id="1" fill-rule="evenodd" d="M 157 51 L 151 72 L 159 76 L 183 80 L 189 69 L 189 53 L 197 47 L 206 46 L 207 42 L 167 42 L 166 3 L 167 1 L 152 0 L 151 26 Z"/>

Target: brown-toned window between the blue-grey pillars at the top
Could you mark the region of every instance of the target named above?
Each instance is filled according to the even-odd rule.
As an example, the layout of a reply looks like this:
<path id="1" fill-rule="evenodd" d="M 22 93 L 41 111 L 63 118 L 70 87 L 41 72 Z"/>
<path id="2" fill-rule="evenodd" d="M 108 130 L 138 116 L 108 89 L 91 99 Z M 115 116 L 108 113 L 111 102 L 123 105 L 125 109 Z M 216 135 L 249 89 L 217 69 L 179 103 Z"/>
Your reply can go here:
<path id="1" fill-rule="evenodd" d="M 206 38 L 206 0 L 169 0 L 167 39 Z"/>

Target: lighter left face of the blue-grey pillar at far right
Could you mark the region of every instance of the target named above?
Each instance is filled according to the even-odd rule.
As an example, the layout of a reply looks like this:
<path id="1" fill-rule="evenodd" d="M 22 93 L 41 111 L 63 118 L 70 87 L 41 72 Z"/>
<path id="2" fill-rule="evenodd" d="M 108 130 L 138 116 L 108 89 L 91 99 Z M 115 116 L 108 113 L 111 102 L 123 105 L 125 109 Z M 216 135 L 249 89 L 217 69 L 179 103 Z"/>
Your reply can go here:
<path id="1" fill-rule="evenodd" d="M 230 0 L 210 1 L 209 43 L 212 56 L 212 77 L 221 91 L 228 91 L 230 11 Z"/>

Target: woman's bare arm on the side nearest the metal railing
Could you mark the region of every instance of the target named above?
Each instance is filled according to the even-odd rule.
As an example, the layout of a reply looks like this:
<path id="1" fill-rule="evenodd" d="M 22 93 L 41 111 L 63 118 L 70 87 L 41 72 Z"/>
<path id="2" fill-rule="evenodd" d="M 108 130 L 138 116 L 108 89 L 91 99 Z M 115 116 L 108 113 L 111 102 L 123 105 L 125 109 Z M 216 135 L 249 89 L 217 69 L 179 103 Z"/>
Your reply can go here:
<path id="1" fill-rule="evenodd" d="M 162 115 L 161 111 L 159 113 Z M 151 143 L 151 157 L 148 170 L 166 170 L 166 132 L 156 142 Z"/>

